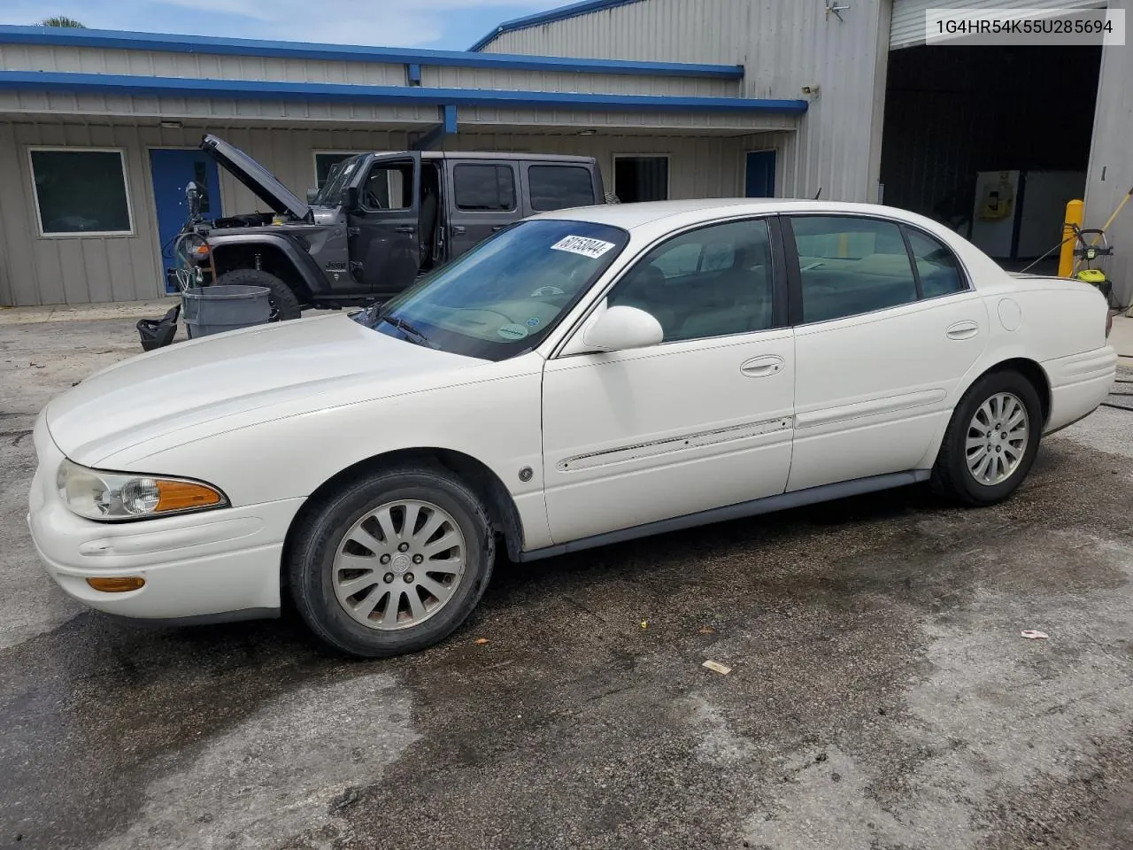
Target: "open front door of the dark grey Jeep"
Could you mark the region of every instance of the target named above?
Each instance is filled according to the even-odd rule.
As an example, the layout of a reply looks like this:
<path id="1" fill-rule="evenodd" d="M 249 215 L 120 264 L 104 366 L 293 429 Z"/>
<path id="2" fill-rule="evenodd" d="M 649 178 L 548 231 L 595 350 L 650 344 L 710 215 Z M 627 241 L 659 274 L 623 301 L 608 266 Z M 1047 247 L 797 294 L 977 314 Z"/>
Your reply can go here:
<path id="1" fill-rule="evenodd" d="M 420 172 L 419 153 L 375 156 L 351 184 L 350 261 L 363 292 L 393 295 L 417 278 Z"/>

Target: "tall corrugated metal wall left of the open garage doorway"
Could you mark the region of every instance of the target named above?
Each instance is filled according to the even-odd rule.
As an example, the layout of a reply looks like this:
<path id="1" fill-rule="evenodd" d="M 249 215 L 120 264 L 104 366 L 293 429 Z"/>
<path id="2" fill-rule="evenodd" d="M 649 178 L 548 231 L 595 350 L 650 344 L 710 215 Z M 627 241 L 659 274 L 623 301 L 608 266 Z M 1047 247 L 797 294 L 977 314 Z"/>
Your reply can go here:
<path id="1" fill-rule="evenodd" d="M 503 33 L 485 50 L 595 59 L 735 62 L 749 97 L 800 97 L 818 86 L 784 138 L 780 194 L 876 201 L 889 0 L 644 0 Z"/>

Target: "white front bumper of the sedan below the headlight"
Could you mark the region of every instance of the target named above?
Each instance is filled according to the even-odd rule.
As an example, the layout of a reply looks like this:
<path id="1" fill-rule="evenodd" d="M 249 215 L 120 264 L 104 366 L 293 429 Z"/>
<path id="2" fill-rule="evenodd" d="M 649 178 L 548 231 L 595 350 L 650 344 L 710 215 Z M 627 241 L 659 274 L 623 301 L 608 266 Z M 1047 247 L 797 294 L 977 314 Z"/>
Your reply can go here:
<path id="1" fill-rule="evenodd" d="M 241 619 L 280 607 L 283 541 L 303 499 L 136 522 L 94 522 L 73 513 L 54 486 L 63 453 L 41 415 L 39 468 L 27 525 L 52 579 L 70 596 L 121 617 Z M 140 576 L 126 593 L 95 590 L 87 578 Z"/>

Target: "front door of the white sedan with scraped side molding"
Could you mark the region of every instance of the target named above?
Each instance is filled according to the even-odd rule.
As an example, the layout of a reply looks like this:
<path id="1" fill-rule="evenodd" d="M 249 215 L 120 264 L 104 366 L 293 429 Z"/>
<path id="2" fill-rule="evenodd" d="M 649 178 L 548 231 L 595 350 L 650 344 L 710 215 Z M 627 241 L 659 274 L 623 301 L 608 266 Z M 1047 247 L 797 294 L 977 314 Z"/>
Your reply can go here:
<path id="1" fill-rule="evenodd" d="M 543 466 L 555 543 L 783 492 L 794 338 L 778 245 L 774 218 L 666 239 L 603 299 L 651 314 L 663 341 L 547 362 Z"/>

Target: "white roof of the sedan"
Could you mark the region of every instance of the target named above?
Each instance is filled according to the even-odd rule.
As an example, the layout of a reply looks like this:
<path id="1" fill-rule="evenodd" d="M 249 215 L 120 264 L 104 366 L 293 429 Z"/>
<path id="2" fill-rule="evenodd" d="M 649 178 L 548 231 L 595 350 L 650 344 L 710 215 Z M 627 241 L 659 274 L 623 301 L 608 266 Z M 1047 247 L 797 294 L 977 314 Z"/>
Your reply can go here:
<path id="1" fill-rule="evenodd" d="M 923 224 L 921 216 L 881 204 L 858 204 L 838 201 L 803 198 L 695 198 L 689 201 L 646 201 L 633 204 L 578 206 L 540 213 L 538 219 L 571 219 L 595 224 L 611 224 L 624 230 L 646 226 L 678 228 L 698 221 L 715 221 L 736 215 L 770 215 L 776 213 L 857 213 L 878 215 Z M 931 223 L 931 222 L 929 222 Z M 935 229 L 935 228 L 934 228 Z"/>

